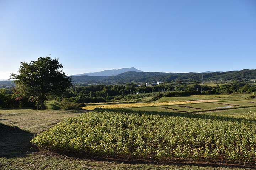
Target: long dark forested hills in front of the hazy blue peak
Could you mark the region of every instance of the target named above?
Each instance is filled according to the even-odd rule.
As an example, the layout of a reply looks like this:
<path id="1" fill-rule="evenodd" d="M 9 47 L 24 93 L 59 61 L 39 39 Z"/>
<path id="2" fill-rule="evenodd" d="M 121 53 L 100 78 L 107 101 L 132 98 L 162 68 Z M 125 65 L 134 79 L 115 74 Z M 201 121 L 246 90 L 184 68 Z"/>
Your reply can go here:
<path id="1" fill-rule="evenodd" d="M 161 72 L 126 72 L 115 76 L 75 76 L 73 82 L 78 83 L 129 83 L 129 82 L 152 82 L 152 81 L 193 81 L 201 80 L 248 80 L 256 79 L 256 70 L 244 69 L 230 72 L 213 73 L 161 73 Z"/>

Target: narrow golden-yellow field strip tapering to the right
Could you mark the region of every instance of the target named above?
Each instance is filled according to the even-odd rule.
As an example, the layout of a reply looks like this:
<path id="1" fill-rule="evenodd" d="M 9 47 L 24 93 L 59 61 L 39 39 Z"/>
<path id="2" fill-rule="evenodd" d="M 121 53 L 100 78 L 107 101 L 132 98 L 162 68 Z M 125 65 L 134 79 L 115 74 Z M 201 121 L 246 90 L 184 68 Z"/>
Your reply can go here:
<path id="1" fill-rule="evenodd" d="M 122 104 L 96 104 L 82 107 L 85 110 L 93 110 L 95 108 L 118 109 L 133 107 L 150 107 L 150 106 L 167 106 L 174 104 L 204 103 L 218 102 L 219 100 L 193 100 L 193 101 L 167 101 L 167 102 L 145 102 L 145 103 L 122 103 Z"/>

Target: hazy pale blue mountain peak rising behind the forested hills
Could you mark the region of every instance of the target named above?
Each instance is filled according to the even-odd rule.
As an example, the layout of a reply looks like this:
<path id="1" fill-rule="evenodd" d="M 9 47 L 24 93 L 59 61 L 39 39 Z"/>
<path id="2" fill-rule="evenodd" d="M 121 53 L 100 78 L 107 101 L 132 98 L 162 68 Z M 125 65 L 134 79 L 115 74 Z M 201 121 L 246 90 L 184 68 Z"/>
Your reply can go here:
<path id="1" fill-rule="evenodd" d="M 94 73 L 83 73 L 83 74 L 76 74 L 71 76 L 81 76 L 81 75 L 89 75 L 89 76 L 112 76 L 118 75 L 125 72 L 143 72 L 142 70 L 138 70 L 134 67 L 131 68 L 121 68 L 121 69 L 113 69 L 113 70 L 104 70 L 101 72 L 94 72 Z"/>

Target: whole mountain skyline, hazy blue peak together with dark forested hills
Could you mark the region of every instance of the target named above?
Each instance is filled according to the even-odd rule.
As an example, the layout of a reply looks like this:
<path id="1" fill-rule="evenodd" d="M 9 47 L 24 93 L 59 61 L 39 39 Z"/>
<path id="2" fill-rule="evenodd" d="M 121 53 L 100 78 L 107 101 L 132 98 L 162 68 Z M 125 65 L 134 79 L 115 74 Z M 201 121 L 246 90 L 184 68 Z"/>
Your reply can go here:
<path id="1" fill-rule="evenodd" d="M 133 71 L 129 71 L 133 70 Z M 120 74 L 119 74 L 120 73 Z M 86 75 L 85 75 L 86 74 Z M 93 76 L 97 75 L 97 76 Z M 101 76 L 98 76 L 101 75 Z M 110 75 L 110 76 L 107 76 Z M 203 72 L 203 73 L 162 73 L 162 72 L 143 72 L 136 68 L 122 68 L 114 70 L 104 70 L 96 73 L 84 73 L 73 75 L 74 84 L 110 84 L 110 83 L 147 83 L 156 81 L 204 81 L 218 80 L 248 80 L 256 79 L 256 69 L 244 69 L 229 72 Z M 10 81 L 0 81 L 0 85 L 13 85 Z"/>

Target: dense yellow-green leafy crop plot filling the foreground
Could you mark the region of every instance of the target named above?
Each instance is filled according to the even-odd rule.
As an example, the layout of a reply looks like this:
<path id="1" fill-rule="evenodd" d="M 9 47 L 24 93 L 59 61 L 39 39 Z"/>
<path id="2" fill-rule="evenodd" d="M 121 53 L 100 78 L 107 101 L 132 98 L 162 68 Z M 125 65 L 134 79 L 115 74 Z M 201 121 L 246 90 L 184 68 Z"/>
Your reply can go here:
<path id="1" fill-rule="evenodd" d="M 61 121 L 32 142 L 96 155 L 250 161 L 256 157 L 255 120 L 250 112 L 222 117 L 99 109 Z"/>

